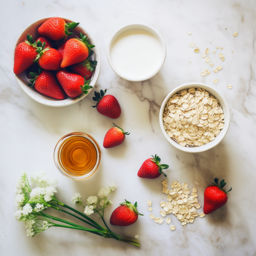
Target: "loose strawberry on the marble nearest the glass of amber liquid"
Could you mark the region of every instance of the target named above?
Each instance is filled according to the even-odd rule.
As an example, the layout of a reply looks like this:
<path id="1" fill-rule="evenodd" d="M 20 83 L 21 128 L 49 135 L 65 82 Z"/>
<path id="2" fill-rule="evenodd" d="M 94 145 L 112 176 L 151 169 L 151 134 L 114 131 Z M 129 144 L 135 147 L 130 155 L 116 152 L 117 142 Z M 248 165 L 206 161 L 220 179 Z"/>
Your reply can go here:
<path id="1" fill-rule="evenodd" d="M 114 123 L 113 123 L 114 124 Z M 115 124 L 114 124 L 115 125 Z M 115 127 L 111 128 L 107 131 L 104 141 L 104 148 L 113 148 L 124 142 L 125 135 L 129 135 L 130 133 L 124 132 L 124 130 L 115 125 Z"/>

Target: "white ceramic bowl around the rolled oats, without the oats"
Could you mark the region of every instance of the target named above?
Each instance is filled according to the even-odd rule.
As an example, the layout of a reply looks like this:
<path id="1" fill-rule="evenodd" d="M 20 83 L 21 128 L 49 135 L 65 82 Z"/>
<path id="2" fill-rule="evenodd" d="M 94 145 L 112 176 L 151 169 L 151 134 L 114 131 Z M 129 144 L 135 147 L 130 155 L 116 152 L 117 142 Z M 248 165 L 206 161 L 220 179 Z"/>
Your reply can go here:
<path id="1" fill-rule="evenodd" d="M 163 113 L 164 113 L 165 105 L 166 105 L 167 101 L 171 98 L 172 95 L 174 95 L 175 93 L 177 93 L 179 91 L 182 91 L 182 90 L 185 90 L 188 88 L 192 88 L 192 87 L 193 88 L 202 88 L 202 89 L 206 90 L 207 92 L 209 92 L 216 99 L 218 99 L 218 101 L 220 102 L 220 105 L 223 109 L 223 114 L 225 116 L 224 117 L 225 124 L 224 124 L 223 129 L 221 129 L 220 133 L 218 134 L 218 136 L 215 137 L 214 141 L 211 141 L 211 142 L 209 142 L 203 146 L 200 146 L 200 147 L 182 147 L 178 143 L 176 143 L 173 139 L 171 139 L 169 137 L 169 135 L 166 133 L 166 131 L 164 129 L 164 123 L 163 123 Z M 160 109 L 160 113 L 159 113 L 159 123 L 160 123 L 161 130 L 164 134 L 164 137 L 172 146 L 174 146 L 175 148 L 180 149 L 182 151 L 185 151 L 185 152 L 198 153 L 198 152 L 203 152 L 208 149 L 211 149 L 211 148 L 215 147 L 216 145 L 218 145 L 222 141 L 222 139 L 227 134 L 227 131 L 229 128 L 230 112 L 229 112 L 229 107 L 228 107 L 227 101 L 223 98 L 223 96 L 218 91 L 216 91 L 211 86 L 208 86 L 206 84 L 199 84 L 199 83 L 184 84 L 184 85 L 178 86 L 177 88 L 172 90 L 164 99 L 161 109 Z"/>

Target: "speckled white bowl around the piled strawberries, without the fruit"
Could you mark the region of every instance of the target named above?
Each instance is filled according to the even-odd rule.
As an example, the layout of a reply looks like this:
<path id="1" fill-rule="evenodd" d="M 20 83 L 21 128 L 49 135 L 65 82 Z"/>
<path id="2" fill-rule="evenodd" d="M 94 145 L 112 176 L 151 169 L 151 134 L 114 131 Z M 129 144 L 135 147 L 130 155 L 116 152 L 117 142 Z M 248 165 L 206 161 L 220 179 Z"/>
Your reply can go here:
<path id="1" fill-rule="evenodd" d="M 56 16 L 54 16 L 56 17 Z M 59 16 L 58 16 L 59 17 Z M 21 43 L 24 42 L 24 40 L 27 38 L 27 34 L 32 35 L 33 40 L 36 40 L 39 35 L 37 33 L 37 29 L 39 28 L 39 26 L 41 26 L 46 20 L 50 19 L 52 17 L 46 17 L 43 18 L 41 20 L 35 21 L 34 23 L 32 23 L 31 25 L 29 25 L 19 36 L 18 40 L 15 43 L 14 49 L 13 49 L 13 54 L 12 54 L 12 68 L 14 65 L 14 52 L 16 49 L 16 46 Z M 64 18 L 64 17 L 60 17 L 62 19 L 64 19 L 66 22 L 74 22 L 73 20 Z M 96 60 L 97 61 L 97 66 L 92 74 L 92 78 L 91 78 L 91 82 L 90 85 L 94 87 L 94 85 L 96 84 L 99 75 L 100 75 L 100 65 L 101 65 L 101 61 L 100 61 L 100 51 L 99 51 L 99 47 L 97 46 L 97 43 L 95 42 L 95 40 L 93 39 L 93 37 L 84 29 L 80 26 L 80 24 L 78 25 L 78 27 L 76 27 L 75 29 L 73 29 L 73 35 L 69 36 L 68 38 L 74 38 L 75 35 L 80 35 L 80 32 L 82 32 L 83 34 L 85 34 L 87 36 L 87 38 L 89 39 L 90 43 L 95 45 L 95 47 L 93 48 L 93 55 L 90 57 L 92 60 Z M 28 86 L 28 84 L 30 83 L 25 72 L 22 72 L 19 75 L 15 75 L 15 78 L 19 84 L 19 86 L 21 87 L 21 89 L 33 100 L 46 105 L 46 106 L 52 106 L 52 107 L 62 107 L 62 106 L 68 106 L 71 104 L 74 104 L 76 102 L 78 102 L 79 100 L 83 99 L 84 97 L 86 97 L 86 95 L 88 94 L 84 94 L 80 99 L 76 99 L 76 98 L 71 98 L 71 97 L 66 97 L 63 100 L 56 100 L 54 98 L 45 96 L 39 92 L 37 92 L 33 87 L 30 88 Z M 92 89 L 88 90 L 89 92 Z"/>

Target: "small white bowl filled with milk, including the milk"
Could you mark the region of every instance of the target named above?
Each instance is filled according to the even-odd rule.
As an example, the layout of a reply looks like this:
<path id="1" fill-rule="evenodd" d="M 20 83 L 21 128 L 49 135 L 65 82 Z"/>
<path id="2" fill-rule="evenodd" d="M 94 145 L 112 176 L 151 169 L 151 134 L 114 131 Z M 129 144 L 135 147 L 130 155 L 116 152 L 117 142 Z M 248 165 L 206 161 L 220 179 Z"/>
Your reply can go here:
<path id="1" fill-rule="evenodd" d="M 166 57 L 162 36 L 145 24 L 129 24 L 118 29 L 107 46 L 108 63 L 120 77 L 144 81 L 158 73 Z"/>

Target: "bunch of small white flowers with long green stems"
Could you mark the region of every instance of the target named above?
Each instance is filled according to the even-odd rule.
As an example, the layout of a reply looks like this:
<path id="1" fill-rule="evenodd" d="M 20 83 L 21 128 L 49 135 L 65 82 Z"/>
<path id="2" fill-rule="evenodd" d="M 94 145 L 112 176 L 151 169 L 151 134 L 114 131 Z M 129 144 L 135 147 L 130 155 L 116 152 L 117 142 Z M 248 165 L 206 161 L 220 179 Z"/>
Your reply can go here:
<path id="1" fill-rule="evenodd" d="M 25 227 L 27 228 L 27 236 L 33 237 L 40 232 L 49 229 L 50 227 L 64 227 L 84 230 L 98 236 L 114 238 L 118 241 L 129 243 L 138 247 L 140 246 L 139 241 L 122 237 L 112 232 L 104 220 L 104 209 L 112 204 L 112 201 L 108 199 L 108 195 L 116 188 L 114 183 L 109 184 L 106 188 L 101 188 L 97 194 L 98 196 L 89 196 L 87 198 L 86 206 L 84 206 L 81 201 L 81 195 L 79 193 L 75 193 L 71 201 L 74 204 L 81 204 L 84 207 L 84 213 L 82 213 L 60 202 L 56 198 L 55 193 L 57 193 L 57 181 L 50 178 L 45 174 L 45 172 L 33 173 L 30 176 L 30 181 L 32 183 L 36 183 L 38 187 L 31 190 L 27 174 L 23 173 L 17 182 L 15 190 L 15 204 L 18 207 L 18 210 L 15 212 L 14 217 L 16 220 L 24 223 Z M 65 212 L 66 214 L 83 221 L 87 225 L 91 226 L 91 228 L 76 225 L 72 222 L 48 215 L 45 213 L 45 210 L 47 210 L 49 207 L 57 211 Z M 65 209 L 75 212 L 81 217 L 78 217 Z M 88 215 L 95 212 L 100 215 L 105 227 L 88 217 Z M 54 221 L 58 221 L 63 224 L 59 224 Z"/>

